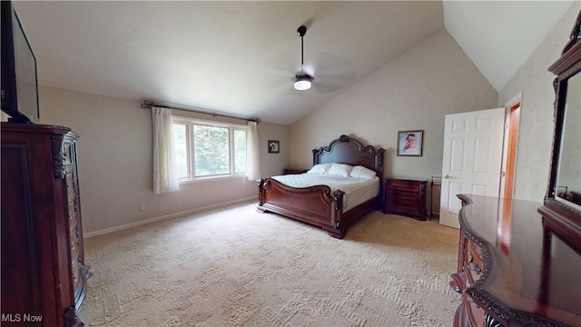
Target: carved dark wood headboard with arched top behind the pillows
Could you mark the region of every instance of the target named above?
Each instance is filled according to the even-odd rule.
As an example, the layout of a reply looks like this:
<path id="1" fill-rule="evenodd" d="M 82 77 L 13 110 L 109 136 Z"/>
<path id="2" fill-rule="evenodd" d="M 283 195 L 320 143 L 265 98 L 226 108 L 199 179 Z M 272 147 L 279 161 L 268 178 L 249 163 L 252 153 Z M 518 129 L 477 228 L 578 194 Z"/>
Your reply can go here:
<path id="1" fill-rule="evenodd" d="M 385 150 L 375 150 L 372 145 L 363 146 L 358 140 L 347 135 L 340 135 L 331 141 L 329 146 L 312 150 L 312 163 L 347 163 L 361 165 L 378 173 L 383 179 L 383 154 Z"/>

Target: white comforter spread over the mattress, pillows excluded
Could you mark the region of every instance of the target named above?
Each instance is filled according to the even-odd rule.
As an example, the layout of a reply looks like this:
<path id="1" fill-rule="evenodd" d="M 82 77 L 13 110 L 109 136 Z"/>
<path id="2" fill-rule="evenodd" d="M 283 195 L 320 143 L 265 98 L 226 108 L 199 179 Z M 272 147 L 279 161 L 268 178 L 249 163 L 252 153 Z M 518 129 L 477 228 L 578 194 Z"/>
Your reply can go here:
<path id="1" fill-rule="evenodd" d="M 291 187 L 329 185 L 331 193 L 341 190 L 345 193 L 343 196 L 343 212 L 372 199 L 379 193 L 379 178 L 377 176 L 366 179 L 330 174 L 301 173 L 272 176 L 272 178 Z"/>

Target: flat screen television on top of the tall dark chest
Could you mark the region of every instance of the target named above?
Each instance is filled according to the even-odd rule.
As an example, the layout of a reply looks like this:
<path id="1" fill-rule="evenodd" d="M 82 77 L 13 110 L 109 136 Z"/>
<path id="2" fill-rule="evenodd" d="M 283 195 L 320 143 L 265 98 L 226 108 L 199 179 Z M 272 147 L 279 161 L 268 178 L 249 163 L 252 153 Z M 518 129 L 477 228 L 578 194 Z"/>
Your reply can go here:
<path id="1" fill-rule="evenodd" d="M 36 58 L 11 1 L 2 1 L 2 111 L 9 122 L 40 120 Z"/>

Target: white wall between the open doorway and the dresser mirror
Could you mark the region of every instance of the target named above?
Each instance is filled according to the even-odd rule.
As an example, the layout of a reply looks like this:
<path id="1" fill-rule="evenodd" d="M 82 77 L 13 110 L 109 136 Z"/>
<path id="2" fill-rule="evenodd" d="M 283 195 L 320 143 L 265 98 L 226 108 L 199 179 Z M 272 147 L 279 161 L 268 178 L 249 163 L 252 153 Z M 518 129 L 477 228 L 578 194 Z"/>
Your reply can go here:
<path id="1" fill-rule="evenodd" d="M 555 101 L 555 75 L 548 72 L 547 68 L 561 55 L 580 7 L 579 2 L 571 6 L 543 43 L 498 93 L 497 103 L 502 105 L 522 91 L 515 199 L 541 202 L 546 193 Z"/>

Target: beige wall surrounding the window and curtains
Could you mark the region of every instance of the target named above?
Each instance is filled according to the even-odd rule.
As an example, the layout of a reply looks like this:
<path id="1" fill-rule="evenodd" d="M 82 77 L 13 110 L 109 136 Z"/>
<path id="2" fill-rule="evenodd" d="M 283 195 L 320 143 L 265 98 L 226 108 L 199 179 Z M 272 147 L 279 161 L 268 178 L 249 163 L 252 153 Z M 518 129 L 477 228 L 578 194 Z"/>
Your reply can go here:
<path id="1" fill-rule="evenodd" d="M 175 193 L 153 193 L 152 114 L 140 103 L 40 87 L 42 124 L 71 127 L 79 141 L 79 185 L 84 233 L 92 235 L 156 219 L 257 197 L 255 182 L 242 177 L 182 183 Z M 261 163 L 282 171 L 286 149 L 264 154 L 268 139 L 288 142 L 288 126 L 261 123 Z M 139 205 L 145 204 L 141 211 Z"/>

